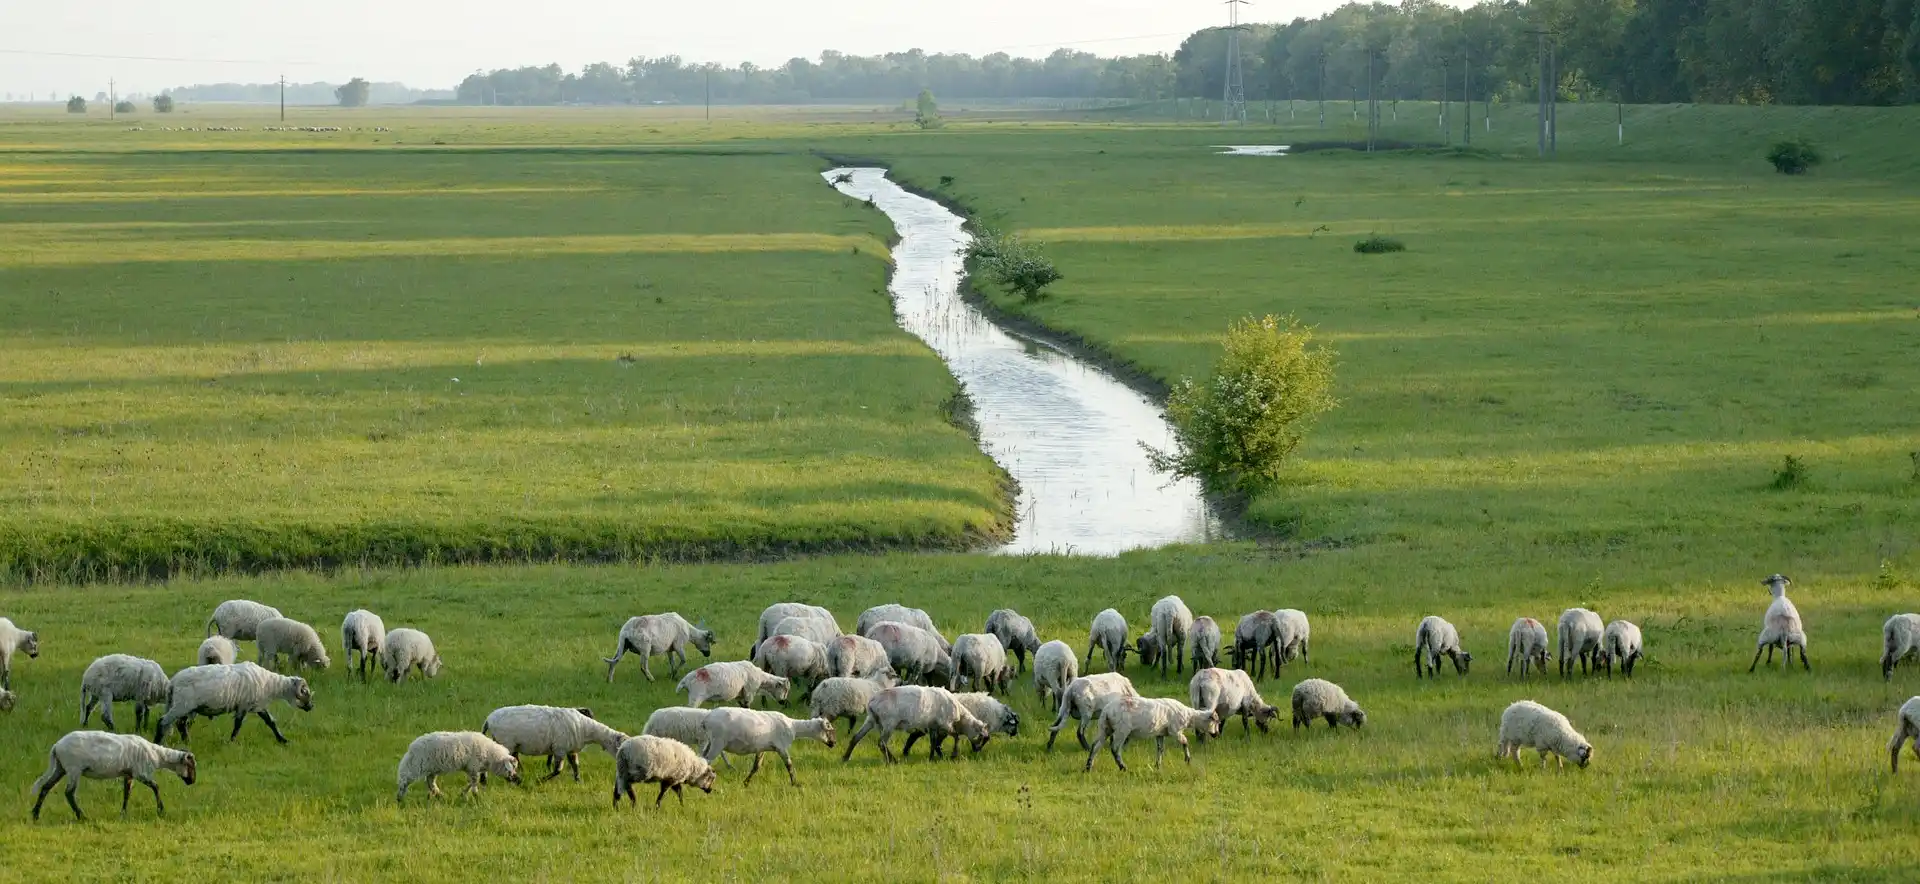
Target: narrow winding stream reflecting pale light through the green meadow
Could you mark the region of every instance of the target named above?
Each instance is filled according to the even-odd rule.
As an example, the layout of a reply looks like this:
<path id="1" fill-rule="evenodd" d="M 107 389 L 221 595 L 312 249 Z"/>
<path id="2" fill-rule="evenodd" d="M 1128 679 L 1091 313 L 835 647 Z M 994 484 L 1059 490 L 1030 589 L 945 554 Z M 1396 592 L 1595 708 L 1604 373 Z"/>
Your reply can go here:
<path id="1" fill-rule="evenodd" d="M 1208 540 L 1219 521 L 1198 482 L 1167 482 L 1140 442 L 1167 446 L 1152 400 L 1044 342 L 1012 334 L 960 298 L 968 234 L 960 215 L 887 179 L 885 169 L 833 169 L 828 181 L 872 202 L 900 234 L 893 304 L 900 327 L 925 340 L 973 398 L 981 448 L 1020 482 L 1006 553 L 1114 555 Z"/>

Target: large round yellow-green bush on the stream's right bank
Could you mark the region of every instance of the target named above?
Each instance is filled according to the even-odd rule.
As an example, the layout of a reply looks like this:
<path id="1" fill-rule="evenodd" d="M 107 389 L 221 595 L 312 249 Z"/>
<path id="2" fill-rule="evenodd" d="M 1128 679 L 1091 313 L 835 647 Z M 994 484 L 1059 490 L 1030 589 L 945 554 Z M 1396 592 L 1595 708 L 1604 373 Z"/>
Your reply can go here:
<path id="1" fill-rule="evenodd" d="M 1200 479 L 1213 490 L 1275 484 L 1319 415 L 1334 409 L 1332 359 L 1292 317 L 1246 317 L 1221 338 L 1221 357 L 1198 382 L 1167 396 L 1173 452 L 1146 446 L 1156 471 Z"/>

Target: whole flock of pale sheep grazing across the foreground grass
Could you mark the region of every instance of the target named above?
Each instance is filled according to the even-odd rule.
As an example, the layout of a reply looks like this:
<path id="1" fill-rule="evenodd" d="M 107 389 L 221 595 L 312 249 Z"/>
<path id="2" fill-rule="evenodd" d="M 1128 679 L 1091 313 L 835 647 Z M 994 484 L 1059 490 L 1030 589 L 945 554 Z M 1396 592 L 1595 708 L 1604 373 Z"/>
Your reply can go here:
<path id="1" fill-rule="evenodd" d="M 1784 653 L 1791 665 L 1799 650 L 1801 667 L 1807 661 L 1807 630 L 1799 611 L 1786 596 L 1791 584 L 1784 575 L 1772 575 L 1763 584 L 1772 594 L 1755 646 L 1751 673 L 1764 653 Z M 1920 653 L 1920 615 L 1903 613 L 1885 623 L 1885 653 L 1880 669 L 1891 678 L 1893 667 Z M 1114 765 L 1127 769 L 1125 748 L 1131 740 L 1154 740 L 1154 763 L 1160 765 L 1167 740 L 1179 744 L 1187 761 L 1192 748 L 1187 734 L 1198 740 L 1219 736 L 1229 719 L 1238 717 L 1244 734 L 1254 726 L 1269 728 L 1279 709 L 1269 705 L 1256 686 L 1267 665 L 1279 669 L 1292 659 L 1308 659 L 1309 623 L 1304 611 L 1254 611 L 1240 617 L 1233 628 L 1227 657 L 1233 669 L 1219 669 L 1221 628 L 1212 617 L 1194 617 L 1179 596 L 1156 602 L 1148 613 L 1148 630 L 1129 638 L 1125 617 L 1104 609 L 1092 619 L 1087 636 L 1085 663 L 1071 646 L 1060 640 L 1041 644 L 1033 621 L 1018 611 L 1000 609 L 987 617 L 981 632 L 962 634 L 952 642 L 933 625 L 933 617 L 916 607 L 877 605 L 864 611 L 854 632 L 843 634 L 831 611 L 804 603 L 776 603 L 760 615 L 760 625 L 749 648 L 749 659 L 718 661 L 697 667 L 684 676 L 687 650 L 712 657 L 716 636 L 678 613 L 641 615 L 620 626 L 618 644 L 607 663 L 607 680 L 628 653 L 639 657 L 641 673 L 653 680 L 653 657 L 666 657 L 668 676 L 678 678 L 676 692 L 687 696 L 684 707 L 653 711 L 637 736 L 624 734 L 593 717 L 591 709 L 553 705 L 511 705 L 486 717 L 478 732 L 440 730 L 422 734 L 407 746 L 396 773 L 396 801 L 405 801 L 413 784 L 424 782 L 426 792 L 440 796 L 438 776 L 467 774 L 467 794 L 472 796 L 488 776 L 520 782 L 520 755 L 547 759 L 545 778 L 572 771 L 580 780 L 580 751 L 599 746 L 614 759 L 614 807 L 620 798 L 637 803 L 634 784 L 657 784 L 655 805 L 668 792 L 685 801 L 684 788 L 712 792 L 716 773 L 712 763 L 728 755 L 753 755 L 753 767 L 743 780 L 760 771 L 760 759 L 774 753 L 787 769 L 795 786 L 793 744 L 797 740 L 837 744 L 835 719 L 852 728 L 841 761 L 874 736 L 879 753 L 895 763 L 891 740 L 904 734 L 900 755 L 912 751 L 922 738 L 929 757 L 945 751 L 958 757 L 966 742 L 970 753 L 987 748 L 995 734 L 1018 736 L 1020 715 L 1000 700 L 1016 673 L 1033 659 L 1033 688 L 1054 715 L 1046 736 L 1046 751 L 1068 723 L 1075 723 L 1075 738 L 1087 749 L 1083 771 L 1094 767 L 1100 749 L 1108 749 Z M 378 669 L 390 682 L 401 682 L 419 673 L 434 678 L 442 671 L 434 642 L 417 628 L 388 630 L 372 611 L 351 611 L 340 625 L 342 651 L 361 680 L 369 669 Z M 236 661 L 236 642 L 255 642 L 257 663 Z M 1603 625 L 1599 615 L 1584 607 L 1569 609 L 1557 623 L 1559 673 L 1571 676 L 1605 671 L 1615 663 L 1626 676 L 1645 655 L 1640 626 L 1628 621 Z M 1094 651 L 1106 657 L 1108 673 L 1091 673 Z M 23 630 L 0 617 L 0 711 L 12 711 L 13 659 L 40 655 L 36 632 Z M 1171 667 L 1188 682 L 1188 703 L 1165 698 L 1146 698 L 1123 675 L 1127 655 L 1144 665 L 1158 665 L 1162 675 Z M 1415 676 L 1438 676 L 1446 657 L 1455 673 L 1467 675 L 1473 653 L 1461 646 L 1459 630 L 1440 617 L 1427 617 L 1413 636 Z M 1544 669 L 1553 659 L 1548 628 L 1521 617 L 1507 636 L 1507 673 L 1515 663 L 1521 676 Z M 269 711 L 284 701 L 296 709 L 313 709 L 313 688 L 305 678 L 284 675 L 300 669 L 332 665 L 319 632 L 280 611 L 257 602 L 223 602 L 207 619 L 207 638 L 202 642 L 198 665 L 180 669 L 171 678 L 150 659 L 109 653 L 86 667 L 81 676 L 81 726 L 98 707 L 108 730 L 75 730 L 54 742 L 46 773 L 35 782 L 33 817 L 56 784 L 67 780 L 65 798 L 75 817 L 83 817 L 75 799 L 81 778 L 121 780 L 121 813 L 132 794 L 132 782 L 154 792 L 156 811 L 165 811 L 159 798 L 157 771 L 173 771 L 188 786 L 198 773 L 194 755 L 165 746 L 169 728 L 180 746 L 196 717 L 232 715 L 228 740 L 240 736 L 250 715 L 257 717 L 278 742 L 286 742 L 278 721 Z M 1089 675 L 1081 675 L 1087 667 Z M 962 692 L 972 688 L 970 692 Z M 791 719 L 780 711 L 753 709 L 756 700 L 785 703 L 799 688 L 808 719 Z M 1290 698 L 1292 726 L 1311 726 L 1325 719 L 1331 728 L 1342 724 L 1359 728 L 1367 723 L 1365 709 L 1344 688 L 1323 678 L 1306 678 Z M 138 734 L 117 734 L 115 701 L 134 703 L 134 728 L 144 730 L 152 709 L 165 709 L 154 726 L 154 740 Z M 722 703 L 705 709 L 707 703 Z M 858 728 L 854 723 L 858 721 Z M 1546 705 L 1521 700 L 1500 715 L 1496 757 L 1521 761 L 1521 749 L 1534 749 L 1542 765 L 1557 759 L 1586 767 L 1594 746 L 1574 730 L 1572 723 Z M 952 740 L 948 748 L 948 740 Z M 1901 748 L 1914 740 L 1920 757 L 1920 698 L 1899 709 L 1899 724 L 1887 753 L 1899 771 Z"/>

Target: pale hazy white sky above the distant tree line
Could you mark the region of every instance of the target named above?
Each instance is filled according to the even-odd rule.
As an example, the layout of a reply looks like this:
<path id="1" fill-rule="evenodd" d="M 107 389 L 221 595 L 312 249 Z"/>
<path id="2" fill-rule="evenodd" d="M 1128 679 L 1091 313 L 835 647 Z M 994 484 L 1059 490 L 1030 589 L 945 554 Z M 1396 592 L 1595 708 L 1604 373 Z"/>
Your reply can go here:
<path id="1" fill-rule="evenodd" d="M 1284 21 L 1334 6 L 1265 0 L 1244 10 L 1248 21 Z M 301 83 L 451 86 L 476 67 L 559 61 L 574 71 L 664 54 L 778 65 L 820 50 L 1171 52 L 1225 13 L 1212 0 L 4 0 L 0 94 L 92 96 L 109 77 L 121 92 L 154 92 L 280 73 Z"/>

